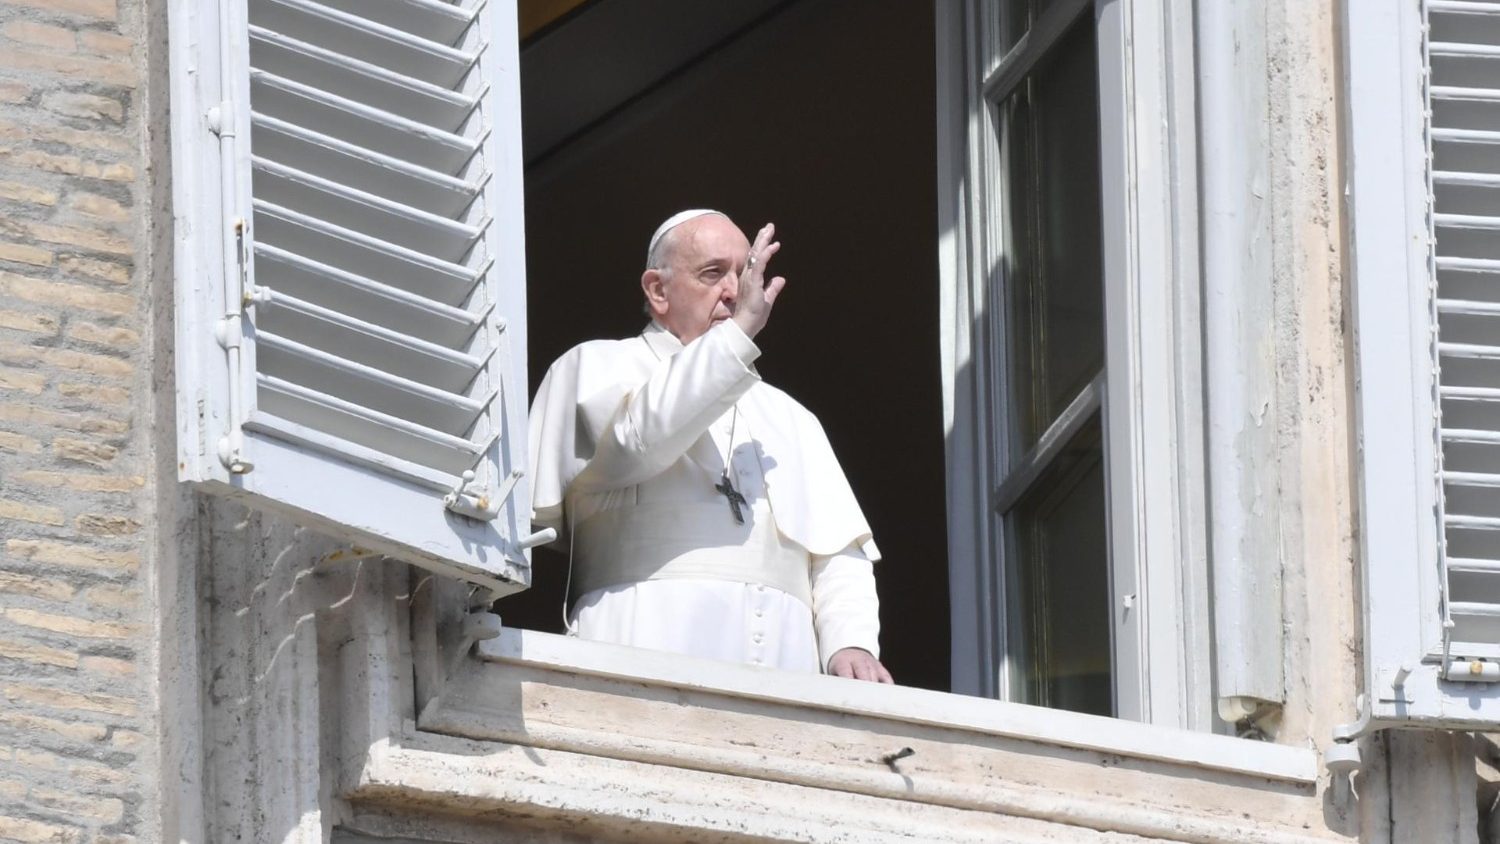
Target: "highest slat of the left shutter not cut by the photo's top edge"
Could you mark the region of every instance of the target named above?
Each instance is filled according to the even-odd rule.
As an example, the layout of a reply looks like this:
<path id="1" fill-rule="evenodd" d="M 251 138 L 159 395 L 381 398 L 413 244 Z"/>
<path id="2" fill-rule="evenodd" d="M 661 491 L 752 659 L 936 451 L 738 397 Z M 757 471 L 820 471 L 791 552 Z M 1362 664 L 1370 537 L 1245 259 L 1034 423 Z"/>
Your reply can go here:
<path id="1" fill-rule="evenodd" d="M 250 63 L 292 79 L 316 79 L 328 93 L 380 103 L 392 114 L 450 132 L 462 127 L 483 94 L 452 91 L 262 27 L 250 27 Z"/>

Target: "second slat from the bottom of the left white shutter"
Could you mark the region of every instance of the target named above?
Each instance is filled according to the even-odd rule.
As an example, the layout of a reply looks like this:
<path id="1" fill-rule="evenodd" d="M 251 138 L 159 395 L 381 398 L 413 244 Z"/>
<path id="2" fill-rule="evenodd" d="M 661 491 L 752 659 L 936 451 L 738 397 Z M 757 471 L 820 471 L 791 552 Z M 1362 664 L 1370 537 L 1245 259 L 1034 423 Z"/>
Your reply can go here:
<path id="1" fill-rule="evenodd" d="M 494 393 L 476 399 L 438 390 L 270 331 L 256 331 L 255 342 L 264 375 L 453 436 L 464 436 L 494 399 Z"/>

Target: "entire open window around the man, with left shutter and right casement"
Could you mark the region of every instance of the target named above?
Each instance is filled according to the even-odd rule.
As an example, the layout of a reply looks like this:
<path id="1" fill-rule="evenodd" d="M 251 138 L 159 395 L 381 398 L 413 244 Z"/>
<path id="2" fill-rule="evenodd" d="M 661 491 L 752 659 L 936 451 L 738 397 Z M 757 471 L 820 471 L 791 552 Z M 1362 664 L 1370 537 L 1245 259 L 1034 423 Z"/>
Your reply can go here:
<path id="1" fill-rule="evenodd" d="M 627 9 L 588 6 L 552 31 L 624 13 L 596 27 L 596 46 L 628 45 L 616 24 L 640 21 Z M 886 555 L 902 549 L 882 586 L 903 679 L 1206 727 L 1186 4 L 939 4 L 936 138 L 927 78 L 860 54 L 819 64 L 849 31 L 819 4 L 693 9 L 676 64 L 636 67 L 644 88 L 546 124 L 544 145 L 526 148 L 528 199 L 550 214 L 526 247 L 556 258 L 556 274 L 532 271 L 542 307 L 526 313 L 510 4 L 174 4 L 174 60 L 206 67 L 174 73 L 177 205 L 190 210 L 184 477 L 520 589 L 538 540 L 516 508 L 528 334 L 566 348 L 638 330 L 633 273 L 610 280 L 590 261 L 614 261 L 615 243 L 639 255 L 674 210 L 786 211 L 796 225 L 778 262 L 789 301 L 806 304 L 772 324 L 782 363 L 768 355 L 762 370 L 780 367 L 772 382 L 807 399 L 846 460 L 873 456 L 848 468 Z M 861 25 L 898 48 L 903 21 Z M 774 31 L 807 48 L 801 63 L 776 54 L 782 76 L 740 79 L 732 96 L 694 82 Z M 670 84 L 681 76 L 694 79 Z M 789 91 L 802 114 L 756 123 Z M 828 102 L 849 109 L 830 121 L 837 133 L 792 130 Z M 882 157 L 902 145 L 916 166 Z M 705 153 L 724 148 L 738 153 L 728 175 Z M 784 184 L 801 172 L 818 178 Z M 790 199 L 818 193 L 831 199 L 818 213 Z M 628 219 L 645 231 L 618 225 Z M 801 256 L 796 238 L 812 244 Z M 798 285 L 798 267 L 816 271 Z M 560 316 L 538 318 L 548 307 Z M 796 354 L 804 331 L 828 337 L 826 366 Z M 561 586 L 561 568 L 550 574 Z"/>

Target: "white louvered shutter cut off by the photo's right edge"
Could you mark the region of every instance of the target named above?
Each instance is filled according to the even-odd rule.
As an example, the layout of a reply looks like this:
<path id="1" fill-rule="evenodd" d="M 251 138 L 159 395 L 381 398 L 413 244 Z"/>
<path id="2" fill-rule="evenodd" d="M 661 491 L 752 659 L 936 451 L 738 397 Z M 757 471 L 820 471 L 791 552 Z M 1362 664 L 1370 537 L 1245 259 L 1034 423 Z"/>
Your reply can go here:
<path id="1" fill-rule="evenodd" d="M 1350 10 L 1366 718 L 1500 724 L 1500 3 Z"/>

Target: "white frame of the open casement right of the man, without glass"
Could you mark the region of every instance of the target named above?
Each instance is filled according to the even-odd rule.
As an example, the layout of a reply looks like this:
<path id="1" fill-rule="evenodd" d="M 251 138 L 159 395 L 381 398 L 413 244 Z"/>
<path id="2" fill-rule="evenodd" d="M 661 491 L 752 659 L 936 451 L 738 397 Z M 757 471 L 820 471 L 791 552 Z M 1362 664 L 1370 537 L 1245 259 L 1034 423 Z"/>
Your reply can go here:
<path id="1" fill-rule="evenodd" d="M 1182 0 L 1070 0 L 1052 12 L 1090 13 L 1090 6 L 1100 45 L 1116 715 L 1208 730 L 1192 9 Z M 952 676 L 954 691 L 1004 697 L 1002 541 L 990 513 L 1000 472 L 988 460 L 1002 376 L 993 349 L 1002 340 L 976 328 L 993 324 L 984 307 L 996 280 L 984 268 L 999 256 L 1000 226 L 984 186 L 1002 171 L 981 82 L 999 60 L 981 49 L 988 33 L 976 9 L 970 1 L 938 12 Z"/>

